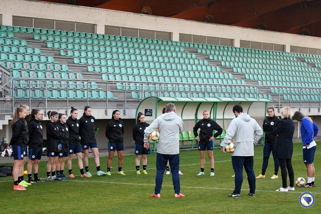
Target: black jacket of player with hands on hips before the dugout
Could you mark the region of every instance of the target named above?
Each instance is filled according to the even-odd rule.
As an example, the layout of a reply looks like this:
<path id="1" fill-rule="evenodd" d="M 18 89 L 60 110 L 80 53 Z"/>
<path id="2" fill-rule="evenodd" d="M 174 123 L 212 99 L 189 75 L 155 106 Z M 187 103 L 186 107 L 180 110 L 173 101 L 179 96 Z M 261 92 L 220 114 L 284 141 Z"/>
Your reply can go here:
<path id="1" fill-rule="evenodd" d="M 202 120 L 198 121 L 195 124 L 193 128 L 195 137 L 198 136 L 198 133 L 197 133 L 198 129 L 200 129 L 200 134 L 199 134 L 200 143 L 204 143 L 204 144 L 210 142 L 209 139 L 212 136 L 216 138 L 223 132 L 223 129 L 221 128 L 221 126 L 211 118 L 208 118 L 208 119 L 203 118 Z M 213 135 L 213 130 L 217 131 L 214 135 Z"/>

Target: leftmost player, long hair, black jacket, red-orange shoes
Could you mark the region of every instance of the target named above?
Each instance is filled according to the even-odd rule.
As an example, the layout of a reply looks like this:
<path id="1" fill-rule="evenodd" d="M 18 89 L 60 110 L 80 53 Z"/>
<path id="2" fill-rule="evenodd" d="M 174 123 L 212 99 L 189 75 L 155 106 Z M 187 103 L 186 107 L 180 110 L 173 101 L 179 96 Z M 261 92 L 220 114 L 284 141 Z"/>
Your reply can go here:
<path id="1" fill-rule="evenodd" d="M 12 127 L 10 146 L 12 146 L 13 150 L 13 190 L 26 190 L 26 188 L 23 186 L 27 186 L 20 181 L 21 168 L 23 169 L 25 147 L 27 146 L 29 140 L 29 133 L 23 120 L 25 117 L 26 109 L 18 107 L 15 109 L 13 119 L 10 122 L 10 126 Z"/>

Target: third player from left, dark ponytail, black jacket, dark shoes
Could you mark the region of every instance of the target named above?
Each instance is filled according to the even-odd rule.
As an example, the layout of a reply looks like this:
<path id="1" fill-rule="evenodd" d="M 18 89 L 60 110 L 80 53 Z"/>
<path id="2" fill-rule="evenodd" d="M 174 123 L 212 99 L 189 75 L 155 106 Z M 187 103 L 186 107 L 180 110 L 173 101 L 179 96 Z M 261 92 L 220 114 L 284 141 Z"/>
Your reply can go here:
<path id="1" fill-rule="evenodd" d="M 43 183 L 38 177 L 38 167 L 42 156 L 43 129 L 40 123 L 42 112 L 39 109 L 32 109 L 29 119 L 29 161 L 27 165 L 28 183 Z M 33 167 L 32 167 L 33 166 Z M 31 171 L 33 168 L 34 180 Z"/>

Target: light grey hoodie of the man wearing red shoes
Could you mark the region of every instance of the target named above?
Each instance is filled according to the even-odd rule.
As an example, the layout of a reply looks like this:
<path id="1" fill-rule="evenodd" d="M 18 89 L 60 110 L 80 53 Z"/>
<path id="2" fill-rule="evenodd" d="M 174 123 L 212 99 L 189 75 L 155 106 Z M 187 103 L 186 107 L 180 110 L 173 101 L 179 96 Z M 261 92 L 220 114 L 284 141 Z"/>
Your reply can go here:
<path id="1" fill-rule="evenodd" d="M 150 126 L 146 127 L 144 142 L 149 142 L 149 134 L 154 130 L 160 132 L 157 143 L 157 153 L 176 155 L 179 153 L 179 133 L 185 129 L 182 118 L 175 112 L 169 112 L 157 117 Z"/>

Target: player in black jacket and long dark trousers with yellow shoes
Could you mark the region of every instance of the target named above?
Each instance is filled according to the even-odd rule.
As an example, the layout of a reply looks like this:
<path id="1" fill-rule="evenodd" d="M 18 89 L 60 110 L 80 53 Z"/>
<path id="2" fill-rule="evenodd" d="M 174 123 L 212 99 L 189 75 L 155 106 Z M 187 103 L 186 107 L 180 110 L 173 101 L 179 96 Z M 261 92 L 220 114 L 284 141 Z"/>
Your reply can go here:
<path id="1" fill-rule="evenodd" d="M 275 116 L 274 106 L 268 107 L 266 112 L 268 117 L 266 117 L 263 121 L 263 131 L 265 132 L 265 141 L 264 141 L 264 148 L 263 148 L 262 171 L 260 175 L 256 177 L 256 179 L 265 178 L 265 171 L 269 164 L 271 151 L 272 151 L 273 160 L 274 160 L 274 174 L 272 175 L 271 179 L 278 178 L 278 171 L 280 167 L 279 160 L 277 157 L 275 157 L 275 154 L 274 154 L 276 136 L 272 134 L 272 131 L 279 125 L 281 120 L 277 116 Z"/>

